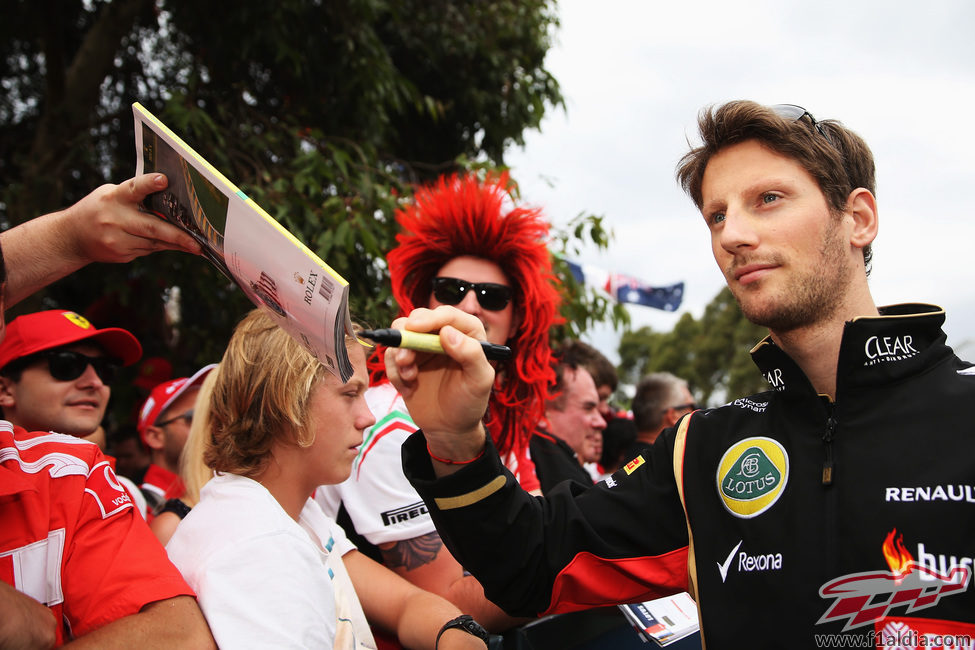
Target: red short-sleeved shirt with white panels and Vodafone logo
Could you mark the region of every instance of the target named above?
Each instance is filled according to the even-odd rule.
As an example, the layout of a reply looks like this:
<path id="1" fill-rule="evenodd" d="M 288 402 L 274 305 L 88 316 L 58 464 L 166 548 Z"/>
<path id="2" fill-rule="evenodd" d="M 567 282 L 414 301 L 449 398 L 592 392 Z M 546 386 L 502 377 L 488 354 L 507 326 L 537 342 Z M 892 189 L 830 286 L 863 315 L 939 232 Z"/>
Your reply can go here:
<path id="1" fill-rule="evenodd" d="M 58 645 L 195 594 L 94 444 L 0 420 L 0 580 L 62 621 Z"/>

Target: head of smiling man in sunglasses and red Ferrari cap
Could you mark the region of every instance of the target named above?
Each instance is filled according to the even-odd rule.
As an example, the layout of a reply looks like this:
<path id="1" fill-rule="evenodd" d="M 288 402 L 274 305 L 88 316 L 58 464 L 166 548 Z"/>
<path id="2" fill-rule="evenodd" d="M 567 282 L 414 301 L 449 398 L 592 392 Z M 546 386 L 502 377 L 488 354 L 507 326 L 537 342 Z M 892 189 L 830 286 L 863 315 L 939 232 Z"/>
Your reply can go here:
<path id="1" fill-rule="evenodd" d="M 110 384 L 142 356 L 126 330 L 98 329 L 73 311 L 15 318 L 0 343 L 0 408 L 28 431 L 87 436 L 101 424 Z"/>

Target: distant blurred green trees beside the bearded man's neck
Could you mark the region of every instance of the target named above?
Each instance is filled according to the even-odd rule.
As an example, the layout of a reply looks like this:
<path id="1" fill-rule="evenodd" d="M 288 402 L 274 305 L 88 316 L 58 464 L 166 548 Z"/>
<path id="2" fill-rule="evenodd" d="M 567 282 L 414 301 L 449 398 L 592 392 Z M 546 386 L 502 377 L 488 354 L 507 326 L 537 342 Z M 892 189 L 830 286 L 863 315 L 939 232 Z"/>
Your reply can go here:
<path id="1" fill-rule="evenodd" d="M 748 354 L 766 334 L 748 322 L 724 288 L 700 320 L 684 314 L 670 332 L 642 327 L 623 334 L 620 375 L 635 384 L 651 372 L 672 372 L 686 379 L 705 404 L 750 395 L 768 389 Z"/>

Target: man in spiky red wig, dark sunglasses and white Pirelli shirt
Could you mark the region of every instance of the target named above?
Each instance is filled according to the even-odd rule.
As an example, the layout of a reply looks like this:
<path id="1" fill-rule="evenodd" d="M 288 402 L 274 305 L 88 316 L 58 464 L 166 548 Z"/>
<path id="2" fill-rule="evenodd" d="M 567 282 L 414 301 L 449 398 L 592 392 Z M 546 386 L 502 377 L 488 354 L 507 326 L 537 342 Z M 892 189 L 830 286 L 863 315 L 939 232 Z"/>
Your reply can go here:
<path id="1" fill-rule="evenodd" d="M 488 341 L 512 348 L 512 358 L 497 363 L 484 422 L 522 487 L 538 492 L 528 443 L 554 382 L 548 333 L 559 303 L 546 245 L 549 224 L 539 209 L 514 204 L 506 173 L 483 180 L 442 177 L 419 188 L 396 220 L 401 232 L 386 259 L 400 315 L 454 305 L 481 320 Z M 366 431 L 352 476 L 322 488 L 317 498 L 330 512 L 341 501 L 356 532 L 411 582 L 453 601 L 489 629 L 510 626 L 512 619 L 464 577 L 403 475 L 400 446 L 416 426 L 385 378 L 381 350 L 374 361 L 366 399 L 376 424 Z"/>

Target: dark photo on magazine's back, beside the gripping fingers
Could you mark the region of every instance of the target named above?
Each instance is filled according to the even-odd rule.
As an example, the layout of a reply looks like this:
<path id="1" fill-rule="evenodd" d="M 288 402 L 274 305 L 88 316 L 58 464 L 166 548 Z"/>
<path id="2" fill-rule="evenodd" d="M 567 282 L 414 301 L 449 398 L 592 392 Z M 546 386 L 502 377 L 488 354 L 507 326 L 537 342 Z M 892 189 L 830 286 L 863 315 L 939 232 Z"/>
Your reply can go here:
<path id="1" fill-rule="evenodd" d="M 147 196 L 143 207 L 189 232 L 203 255 L 233 280 L 223 253 L 227 196 L 147 125 L 142 127 L 142 158 L 145 173 L 161 172 L 169 179 L 169 187 Z"/>

